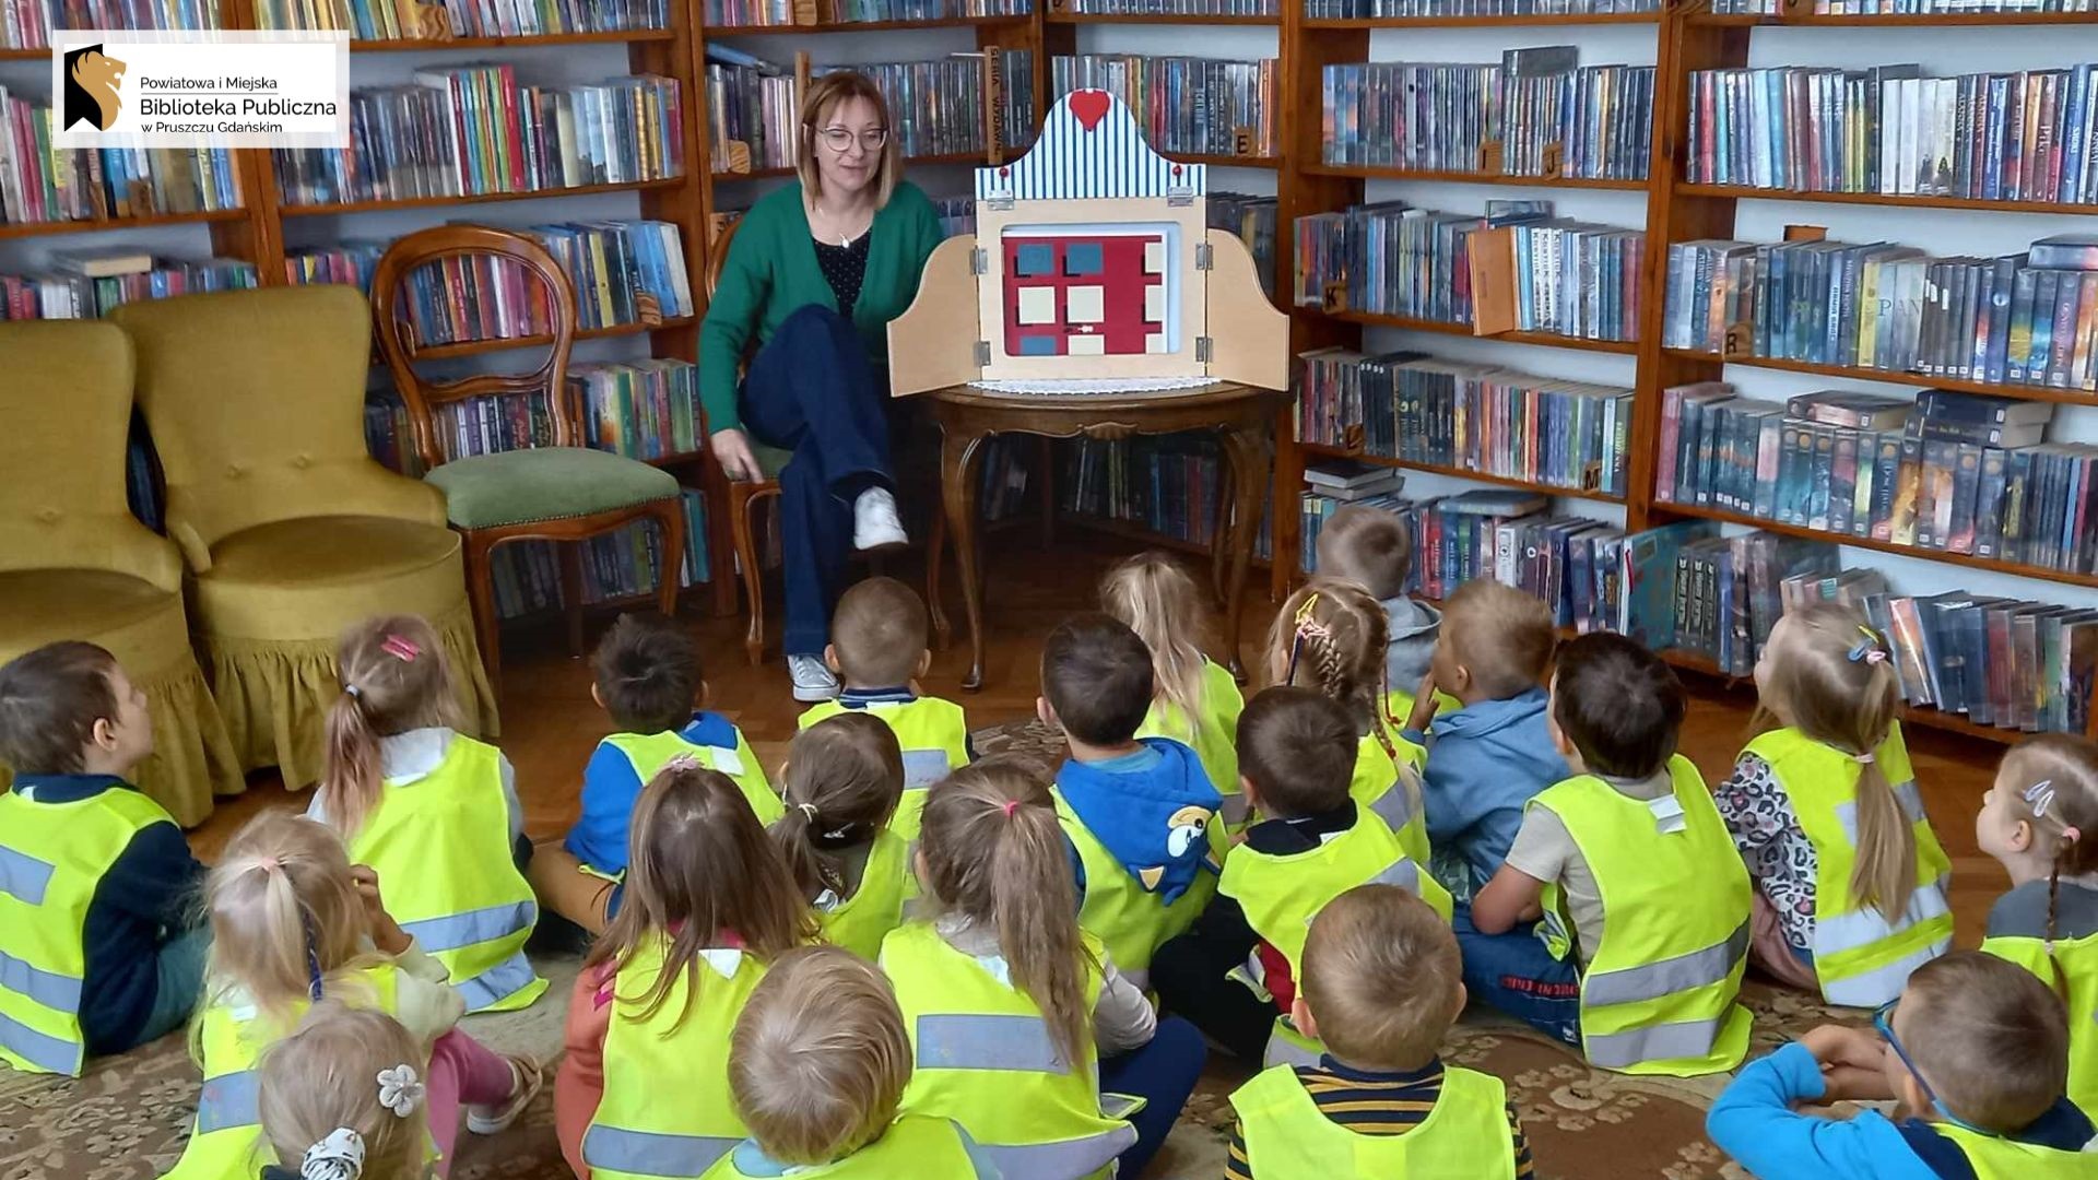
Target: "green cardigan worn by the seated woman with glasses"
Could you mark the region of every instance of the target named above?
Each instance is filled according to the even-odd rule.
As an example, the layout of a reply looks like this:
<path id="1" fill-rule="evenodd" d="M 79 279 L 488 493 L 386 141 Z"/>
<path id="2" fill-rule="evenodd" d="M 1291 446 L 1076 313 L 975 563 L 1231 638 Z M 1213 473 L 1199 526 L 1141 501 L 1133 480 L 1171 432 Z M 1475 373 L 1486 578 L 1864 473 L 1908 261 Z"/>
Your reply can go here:
<path id="1" fill-rule="evenodd" d="M 866 244 L 866 281 L 852 304 L 852 325 L 866 342 L 866 357 L 887 363 L 890 321 L 917 298 L 925 258 L 940 246 L 940 214 L 917 185 L 896 185 L 890 204 L 875 212 Z M 785 185 L 759 197 L 736 225 L 722 283 L 707 300 L 699 325 L 699 399 L 707 428 L 736 430 L 736 367 L 745 349 L 764 346 L 772 332 L 801 304 L 837 311 L 837 296 L 816 262 L 816 244 L 801 208 L 801 185 Z"/>

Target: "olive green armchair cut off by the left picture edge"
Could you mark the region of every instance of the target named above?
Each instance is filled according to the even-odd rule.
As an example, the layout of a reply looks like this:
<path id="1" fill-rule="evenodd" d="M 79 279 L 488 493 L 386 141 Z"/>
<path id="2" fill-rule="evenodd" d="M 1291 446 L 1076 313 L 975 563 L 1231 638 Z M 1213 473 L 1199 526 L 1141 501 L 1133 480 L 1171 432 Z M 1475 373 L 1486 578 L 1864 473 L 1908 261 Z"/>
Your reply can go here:
<path id="1" fill-rule="evenodd" d="M 109 323 L 0 323 L 0 663 L 63 638 L 109 649 L 153 716 L 132 779 L 201 823 L 212 796 L 241 789 L 241 764 L 189 647 L 183 561 L 124 504 L 130 340 Z"/>

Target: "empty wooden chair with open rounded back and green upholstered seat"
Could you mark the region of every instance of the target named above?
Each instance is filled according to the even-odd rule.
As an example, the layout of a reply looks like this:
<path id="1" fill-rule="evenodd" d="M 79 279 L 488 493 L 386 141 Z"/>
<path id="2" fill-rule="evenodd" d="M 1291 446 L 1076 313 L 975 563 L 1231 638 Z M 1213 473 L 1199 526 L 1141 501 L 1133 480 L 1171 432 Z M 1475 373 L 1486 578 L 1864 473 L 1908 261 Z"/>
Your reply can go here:
<path id="1" fill-rule="evenodd" d="M 409 277 L 426 265 L 466 256 L 499 256 L 518 265 L 545 290 L 552 346 L 545 361 L 527 374 L 474 374 L 457 380 L 428 380 L 415 372 L 422 346 L 409 321 Z M 678 577 L 684 569 L 684 496 L 667 470 L 583 445 L 577 391 L 569 388 L 569 351 L 575 344 L 575 288 L 552 254 L 537 241 L 480 225 L 441 225 L 409 233 L 386 250 L 371 279 L 373 319 L 380 353 L 394 388 L 409 409 L 415 449 L 428 464 L 428 479 L 445 491 L 445 517 L 462 533 L 468 594 L 489 680 L 501 668 L 501 628 L 495 615 L 495 546 L 522 540 L 556 542 L 560 550 L 560 592 L 569 611 L 569 649 L 583 651 L 583 550 L 581 542 L 638 521 L 661 529 L 657 603 L 665 615 L 678 613 Z M 554 443 L 445 462 L 436 409 L 468 397 L 543 395 Z"/>

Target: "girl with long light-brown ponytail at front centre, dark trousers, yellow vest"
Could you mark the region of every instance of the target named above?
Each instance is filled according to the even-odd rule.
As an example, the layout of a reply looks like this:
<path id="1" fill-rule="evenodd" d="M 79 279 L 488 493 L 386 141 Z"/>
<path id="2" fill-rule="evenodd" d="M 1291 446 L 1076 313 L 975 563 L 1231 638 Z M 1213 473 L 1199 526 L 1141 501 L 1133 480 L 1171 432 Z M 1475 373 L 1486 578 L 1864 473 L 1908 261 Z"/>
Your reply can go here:
<path id="1" fill-rule="evenodd" d="M 1116 1159 L 1141 1176 L 1206 1050 L 1078 930 L 1049 781 L 1020 758 L 955 771 L 927 794 L 917 873 L 934 915 L 881 941 L 917 1056 L 904 1111 L 955 1119 L 1005 1176 L 1108 1176 Z"/>

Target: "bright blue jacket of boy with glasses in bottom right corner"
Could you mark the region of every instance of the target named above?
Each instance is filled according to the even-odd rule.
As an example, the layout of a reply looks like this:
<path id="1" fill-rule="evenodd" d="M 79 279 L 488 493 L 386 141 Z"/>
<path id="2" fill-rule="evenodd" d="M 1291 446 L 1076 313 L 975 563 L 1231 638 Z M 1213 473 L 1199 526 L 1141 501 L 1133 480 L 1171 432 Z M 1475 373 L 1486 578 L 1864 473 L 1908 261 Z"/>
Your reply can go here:
<path id="1" fill-rule="evenodd" d="M 1706 1115 L 1706 1134 L 1762 1180 L 1976 1180 L 1960 1146 L 1930 1123 L 1892 1123 L 1867 1111 L 1855 1119 L 1794 1113 L 1821 1098 L 1821 1067 L 1794 1041 L 1750 1062 Z M 2067 1098 L 2025 1128 L 2018 1142 L 2079 1151 L 2092 1121 Z"/>

